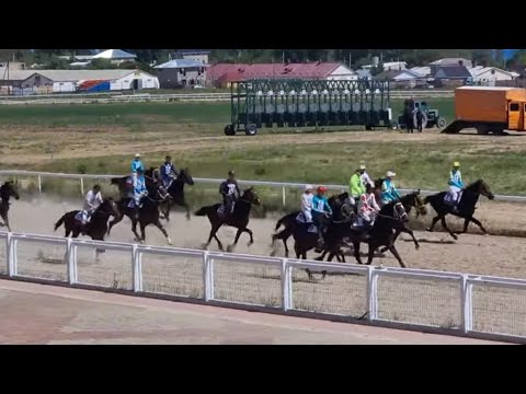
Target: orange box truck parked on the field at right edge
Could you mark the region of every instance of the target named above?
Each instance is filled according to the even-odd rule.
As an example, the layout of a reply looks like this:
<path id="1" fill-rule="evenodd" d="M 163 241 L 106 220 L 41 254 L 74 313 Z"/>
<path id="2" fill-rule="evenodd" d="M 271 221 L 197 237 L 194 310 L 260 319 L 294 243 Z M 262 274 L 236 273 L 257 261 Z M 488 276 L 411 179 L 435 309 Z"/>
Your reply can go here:
<path id="1" fill-rule="evenodd" d="M 506 86 L 461 86 L 455 90 L 455 121 L 442 132 L 474 128 L 481 135 L 526 131 L 526 90 Z"/>

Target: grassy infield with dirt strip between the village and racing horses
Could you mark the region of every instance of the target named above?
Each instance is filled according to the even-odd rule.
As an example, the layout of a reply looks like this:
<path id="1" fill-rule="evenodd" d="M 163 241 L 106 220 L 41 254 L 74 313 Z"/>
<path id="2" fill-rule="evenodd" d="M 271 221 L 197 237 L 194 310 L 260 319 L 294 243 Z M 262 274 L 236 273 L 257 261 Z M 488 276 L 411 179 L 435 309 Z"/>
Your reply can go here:
<path id="1" fill-rule="evenodd" d="M 453 119 L 453 100 L 430 100 Z M 393 114 L 402 102 L 393 103 Z M 262 129 L 227 138 L 228 103 L 0 106 L 0 165 L 72 173 L 126 173 L 139 151 L 146 165 L 171 153 L 194 176 L 346 184 L 361 162 L 374 176 L 398 174 L 400 187 L 445 189 L 454 160 L 467 181 L 498 194 L 526 194 L 526 139 L 399 131 Z"/>

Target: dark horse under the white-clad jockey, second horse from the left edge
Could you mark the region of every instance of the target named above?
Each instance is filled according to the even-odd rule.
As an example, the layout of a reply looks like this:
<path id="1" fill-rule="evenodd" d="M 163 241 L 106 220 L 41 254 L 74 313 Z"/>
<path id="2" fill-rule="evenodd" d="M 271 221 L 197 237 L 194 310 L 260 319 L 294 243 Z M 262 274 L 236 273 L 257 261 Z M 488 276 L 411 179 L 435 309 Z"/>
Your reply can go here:
<path id="1" fill-rule="evenodd" d="M 82 231 L 82 211 L 75 210 L 62 215 L 62 217 L 55 223 L 55 230 L 57 231 L 60 225 L 64 224 L 66 237 L 71 234 L 72 237 L 78 237 Z M 107 219 L 113 216 L 114 218 L 119 216 L 118 208 L 113 198 L 103 199 L 102 204 L 91 215 L 90 221 L 85 225 L 85 234 L 91 236 L 93 241 L 104 241 L 104 235 L 107 230 Z M 96 250 L 96 259 L 99 254 L 104 253 L 104 250 Z"/>

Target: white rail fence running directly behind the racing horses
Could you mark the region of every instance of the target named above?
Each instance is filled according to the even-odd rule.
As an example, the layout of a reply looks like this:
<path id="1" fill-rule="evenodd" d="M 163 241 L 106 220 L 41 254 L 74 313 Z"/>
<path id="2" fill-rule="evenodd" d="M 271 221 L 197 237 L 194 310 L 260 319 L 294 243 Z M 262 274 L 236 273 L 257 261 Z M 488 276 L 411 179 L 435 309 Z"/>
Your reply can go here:
<path id="1" fill-rule="evenodd" d="M 37 172 L 37 171 L 19 171 L 19 170 L 2 170 L 0 171 L 0 176 L 21 176 L 21 177 L 36 177 L 38 192 L 42 193 L 43 179 L 48 178 L 62 178 L 62 179 L 79 179 L 80 192 L 84 194 L 84 179 L 111 179 L 113 177 L 119 177 L 124 175 L 105 175 L 105 174 L 65 174 L 65 173 L 47 173 L 47 172 Z M 217 178 L 194 178 L 196 183 L 204 184 L 214 184 L 219 185 L 224 179 Z M 282 189 L 282 202 L 285 207 L 286 205 L 286 194 L 288 188 L 301 189 L 305 187 L 305 183 L 291 183 L 291 182 L 268 182 L 268 181 L 243 181 L 239 179 L 241 185 L 250 186 L 265 186 L 265 187 L 275 187 Z M 348 186 L 345 185 L 325 185 L 329 189 L 332 190 L 348 190 Z M 411 193 L 413 189 L 400 189 L 401 193 Z M 433 190 L 420 190 L 424 196 L 436 194 L 438 192 Z M 526 202 L 526 196 L 505 196 L 505 195 L 495 195 L 495 199 L 505 202 Z"/>

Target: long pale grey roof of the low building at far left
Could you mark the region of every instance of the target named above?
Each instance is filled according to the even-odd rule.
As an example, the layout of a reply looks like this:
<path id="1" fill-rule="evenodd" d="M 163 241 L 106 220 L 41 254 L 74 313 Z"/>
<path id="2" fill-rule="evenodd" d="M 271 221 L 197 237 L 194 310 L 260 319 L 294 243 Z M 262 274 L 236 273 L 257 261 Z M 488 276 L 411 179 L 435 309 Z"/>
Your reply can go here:
<path id="1" fill-rule="evenodd" d="M 18 70 L 9 71 L 9 80 L 24 81 L 34 74 L 39 74 L 54 82 L 69 82 L 82 80 L 117 80 L 135 73 L 136 71 L 137 70 Z M 141 72 L 146 73 L 145 71 Z M 3 76 L 3 72 L 1 70 L 0 74 Z"/>

